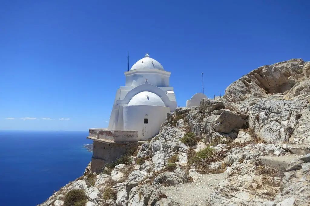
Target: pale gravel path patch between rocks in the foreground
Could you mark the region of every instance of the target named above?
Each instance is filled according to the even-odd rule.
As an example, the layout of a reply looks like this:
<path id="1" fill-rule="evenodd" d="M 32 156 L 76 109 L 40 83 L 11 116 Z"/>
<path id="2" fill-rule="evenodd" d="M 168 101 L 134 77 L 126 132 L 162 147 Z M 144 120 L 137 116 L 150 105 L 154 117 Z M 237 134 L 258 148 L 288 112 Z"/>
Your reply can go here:
<path id="1" fill-rule="evenodd" d="M 199 180 L 162 187 L 161 191 L 180 205 L 206 205 L 207 197 L 214 191 L 214 186 L 224 179 L 224 174 L 201 174 Z"/>

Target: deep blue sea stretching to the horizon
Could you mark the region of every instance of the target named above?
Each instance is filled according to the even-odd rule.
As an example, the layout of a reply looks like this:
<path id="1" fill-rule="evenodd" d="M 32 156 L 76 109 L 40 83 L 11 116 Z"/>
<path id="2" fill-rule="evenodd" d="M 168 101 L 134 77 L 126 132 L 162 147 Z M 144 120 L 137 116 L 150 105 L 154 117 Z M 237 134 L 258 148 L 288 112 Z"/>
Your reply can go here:
<path id="1" fill-rule="evenodd" d="M 34 206 L 83 175 L 88 132 L 0 131 L 0 205 Z"/>

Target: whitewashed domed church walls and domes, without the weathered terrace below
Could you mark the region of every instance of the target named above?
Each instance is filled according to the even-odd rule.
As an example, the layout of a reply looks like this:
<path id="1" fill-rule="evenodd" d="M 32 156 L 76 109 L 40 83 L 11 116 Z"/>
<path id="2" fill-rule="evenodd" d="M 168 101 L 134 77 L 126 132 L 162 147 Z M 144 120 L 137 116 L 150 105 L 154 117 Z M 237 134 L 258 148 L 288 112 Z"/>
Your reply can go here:
<path id="1" fill-rule="evenodd" d="M 116 92 L 108 130 L 138 131 L 138 140 L 150 139 L 177 106 L 170 72 L 146 54 L 125 76 L 125 86 Z"/>

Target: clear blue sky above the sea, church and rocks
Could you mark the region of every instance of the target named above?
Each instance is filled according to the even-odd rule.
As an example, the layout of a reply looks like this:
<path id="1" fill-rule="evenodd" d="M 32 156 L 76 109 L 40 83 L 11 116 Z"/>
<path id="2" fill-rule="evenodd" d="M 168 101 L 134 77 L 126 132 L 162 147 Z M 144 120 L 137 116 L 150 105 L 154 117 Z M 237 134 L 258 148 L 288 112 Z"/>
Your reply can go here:
<path id="1" fill-rule="evenodd" d="M 107 127 L 119 86 L 149 53 L 178 105 L 251 70 L 310 61 L 310 1 L 0 2 L 0 130 Z M 7 119 L 14 118 L 14 119 Z M 45 119 L 44 119 L 45 118 Z"/>

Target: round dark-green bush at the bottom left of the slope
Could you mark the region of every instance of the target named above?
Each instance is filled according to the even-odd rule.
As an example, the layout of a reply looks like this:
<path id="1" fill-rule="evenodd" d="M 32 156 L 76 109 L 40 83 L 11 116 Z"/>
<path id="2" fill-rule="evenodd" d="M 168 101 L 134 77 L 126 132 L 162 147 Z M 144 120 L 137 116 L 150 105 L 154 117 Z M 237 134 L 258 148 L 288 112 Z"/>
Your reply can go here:
<path id="1" fill-rule="evenodd" d="M 85 206 L 87 196 L 84 190 L 70 190 L 64 197 L 64 206 Z"/>

